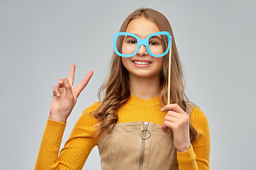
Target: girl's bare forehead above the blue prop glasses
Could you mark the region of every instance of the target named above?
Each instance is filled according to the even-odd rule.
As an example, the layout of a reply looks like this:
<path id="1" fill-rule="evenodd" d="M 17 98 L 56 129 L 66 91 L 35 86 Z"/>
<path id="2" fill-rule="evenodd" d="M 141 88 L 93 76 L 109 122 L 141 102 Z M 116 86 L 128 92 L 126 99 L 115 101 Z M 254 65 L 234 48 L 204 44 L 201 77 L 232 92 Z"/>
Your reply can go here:
<path id="1" fill-rule="evenodd" d="M 125 32 L 136 34 L 139 38 L 144 39 L 149 34 L 159 31 L 160 30 L 154 21 L 141 17 L 130 21 Z"/>

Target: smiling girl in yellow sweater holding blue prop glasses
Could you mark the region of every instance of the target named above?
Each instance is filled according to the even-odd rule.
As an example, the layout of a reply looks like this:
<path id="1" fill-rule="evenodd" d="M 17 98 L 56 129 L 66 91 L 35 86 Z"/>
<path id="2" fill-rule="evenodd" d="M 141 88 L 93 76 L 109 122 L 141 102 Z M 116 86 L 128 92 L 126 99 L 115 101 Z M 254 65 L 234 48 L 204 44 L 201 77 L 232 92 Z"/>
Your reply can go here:
<path id="1" fill-rule="evenodd" d="M 60 153 L 66 120 L 93 72 L 73 87 L 72 64 L 68 79 L 53 86 L 35 169 L 82 169 L 95 145 L 102 169 L 210 169 L 208 121 L 184 94 L 169 21 L 158 11 L 140 8 L 126 18 L 120 32 L 114 39 L 109 77 L 99 91 L 99 96 L 103 91 L 105 95 L 82 112 Z M 139 46 L 144 39 L 146 44 Z"/>

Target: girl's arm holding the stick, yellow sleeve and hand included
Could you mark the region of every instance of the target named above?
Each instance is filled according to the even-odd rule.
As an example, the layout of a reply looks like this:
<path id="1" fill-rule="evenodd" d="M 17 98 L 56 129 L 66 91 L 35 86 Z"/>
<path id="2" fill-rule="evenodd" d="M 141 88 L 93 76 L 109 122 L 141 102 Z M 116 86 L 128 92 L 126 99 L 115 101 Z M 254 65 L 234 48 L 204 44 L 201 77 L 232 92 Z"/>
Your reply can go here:
<path id="1" fill-rule="evenodd" d="M 174 146 L 177 149 L 180 170 L 210 169 L 210 131 L 206 115 L 194 107 L 189 117 L 177 104 L 164 106 L 161 111 L 168 111 L 163 120 L 162 130 L 171 128 L 174 132 Z M 190 141 L 189 120 L 198 130 L 198 140 Z"/>

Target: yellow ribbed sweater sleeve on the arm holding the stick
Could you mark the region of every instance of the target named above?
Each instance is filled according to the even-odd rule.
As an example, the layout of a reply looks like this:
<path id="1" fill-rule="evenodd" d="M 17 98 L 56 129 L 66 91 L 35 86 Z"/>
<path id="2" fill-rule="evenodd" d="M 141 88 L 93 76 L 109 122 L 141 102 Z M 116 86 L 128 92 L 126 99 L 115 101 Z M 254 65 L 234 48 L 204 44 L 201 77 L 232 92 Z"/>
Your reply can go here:
<path id="1" fill-rule="evenodd" d="M 191 123 L 198 130 L 198 140 L 191 142 L 186 152 L 177 152 L 180 170 L 210 169 L 210 130 L 206 115 L 197 107 L 191 113 Z"/>

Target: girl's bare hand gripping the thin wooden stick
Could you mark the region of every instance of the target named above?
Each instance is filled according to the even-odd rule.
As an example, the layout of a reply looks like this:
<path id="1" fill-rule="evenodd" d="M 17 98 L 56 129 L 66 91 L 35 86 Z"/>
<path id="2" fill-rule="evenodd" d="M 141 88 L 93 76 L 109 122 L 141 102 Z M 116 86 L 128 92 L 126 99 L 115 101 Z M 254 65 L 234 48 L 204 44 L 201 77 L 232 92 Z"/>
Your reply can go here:
<path id="1" fill-rule="evenodd" d="M 164 117 L 161 129 L 167 132 L 171 128 L 174 135 L 174 146 L 178 152 L 186 152 L 191 146 L 189 137 L 189 115 L 178 104 L 169 104 L 161 108 L 168 111 Z"/>

